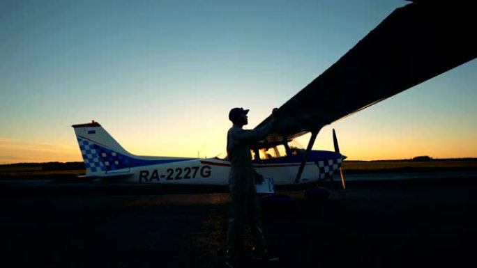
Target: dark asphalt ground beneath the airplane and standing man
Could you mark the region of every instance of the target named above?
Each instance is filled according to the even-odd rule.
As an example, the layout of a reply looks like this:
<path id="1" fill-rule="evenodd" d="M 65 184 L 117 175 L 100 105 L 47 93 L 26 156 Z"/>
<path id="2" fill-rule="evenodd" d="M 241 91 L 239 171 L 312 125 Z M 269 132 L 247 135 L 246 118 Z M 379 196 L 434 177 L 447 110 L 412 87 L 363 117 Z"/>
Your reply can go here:
<path id="1" fill-rule="evenodd" d="M 324 201 L 287 191 L 295 203 L 263 211 L 280 260 L 248 260 L 245 233 L 244 267 L 477 267 L 477 176 L 422 179 L 349 183 Z M 31 183 L 0 187 L 0 267 L 224 267 L 225 192 L 33 194 Z"/>

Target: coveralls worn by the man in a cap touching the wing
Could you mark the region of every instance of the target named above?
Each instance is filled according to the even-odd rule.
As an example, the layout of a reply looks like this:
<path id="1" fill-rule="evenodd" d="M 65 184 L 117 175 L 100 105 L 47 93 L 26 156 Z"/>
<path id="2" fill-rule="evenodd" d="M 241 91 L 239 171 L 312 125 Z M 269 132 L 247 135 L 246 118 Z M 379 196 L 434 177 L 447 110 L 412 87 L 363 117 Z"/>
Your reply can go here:
<path id="1" fill-rule="evenodd" d="M 227 231 L 227 258 L 236 258 L 242 246 L 245 223 L 250 225 L 252 242 L 259 254 L 268 253 L 262 230 L 262 216 L 255 189 L 250 143 L 255 143 L 271 131 L 272 122 L 259 129 L 242 129 L 234 125 L 227 133 L 227 154 L 232 168 L 229 171 L 230 215 Z"/>

